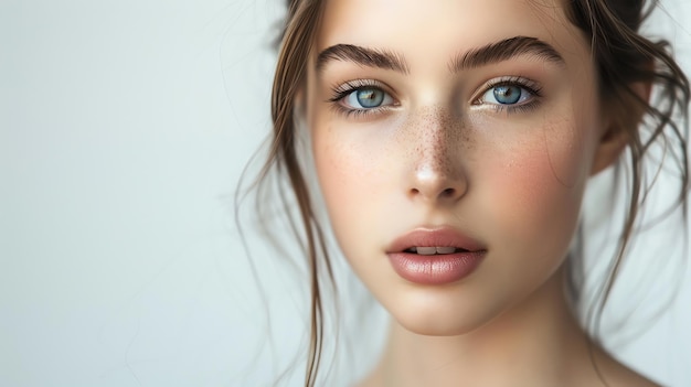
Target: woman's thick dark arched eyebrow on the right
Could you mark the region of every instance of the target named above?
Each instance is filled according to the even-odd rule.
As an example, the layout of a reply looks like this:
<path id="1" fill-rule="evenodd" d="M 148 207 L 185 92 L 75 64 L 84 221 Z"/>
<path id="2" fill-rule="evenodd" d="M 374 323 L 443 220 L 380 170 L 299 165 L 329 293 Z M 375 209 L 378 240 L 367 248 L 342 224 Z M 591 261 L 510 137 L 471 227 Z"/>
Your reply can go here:
<path id="1" fill-rule="evenodd" d="M 533 55 L 560 66 L 566 64 L 562 55 L 549 43 L 531 36 L 514 36 L 458 54 L 448 67 L 451 73 L 458 73 L 521 55 Z"/>

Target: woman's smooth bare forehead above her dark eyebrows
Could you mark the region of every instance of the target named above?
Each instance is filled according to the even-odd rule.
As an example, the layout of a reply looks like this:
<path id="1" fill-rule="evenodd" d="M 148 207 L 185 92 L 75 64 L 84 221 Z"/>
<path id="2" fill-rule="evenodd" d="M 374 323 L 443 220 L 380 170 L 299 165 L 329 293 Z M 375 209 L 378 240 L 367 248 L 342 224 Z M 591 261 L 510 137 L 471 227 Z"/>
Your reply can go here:
<path id="1" fill-rule="evenodd" d="M 519 35 L 564 55 L 586 46 L 560 0 L 327 0 L 323 11 L 318 52 L 348 43 L 435 61 Z"/>

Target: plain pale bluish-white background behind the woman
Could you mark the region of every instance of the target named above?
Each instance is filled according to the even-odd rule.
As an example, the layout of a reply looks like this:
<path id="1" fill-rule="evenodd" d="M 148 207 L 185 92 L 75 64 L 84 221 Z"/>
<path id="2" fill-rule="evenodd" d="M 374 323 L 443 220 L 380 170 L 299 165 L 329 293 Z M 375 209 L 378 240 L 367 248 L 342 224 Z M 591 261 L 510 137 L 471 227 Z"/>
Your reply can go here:
<path id="1" fill-rule="evenodd" d="M 665 3 L 679 23 L 651 29 L 691 71 L 691 8 Z M 0 0 L 0 386 L 268 385 L 294 358 L 301 288 L 259 259 L 259 295 L 232 200 L 269 130 L 281 7 Z M 691 386 L 691 275 L 674 270 L 672 307 L 616 352 Z"/>

